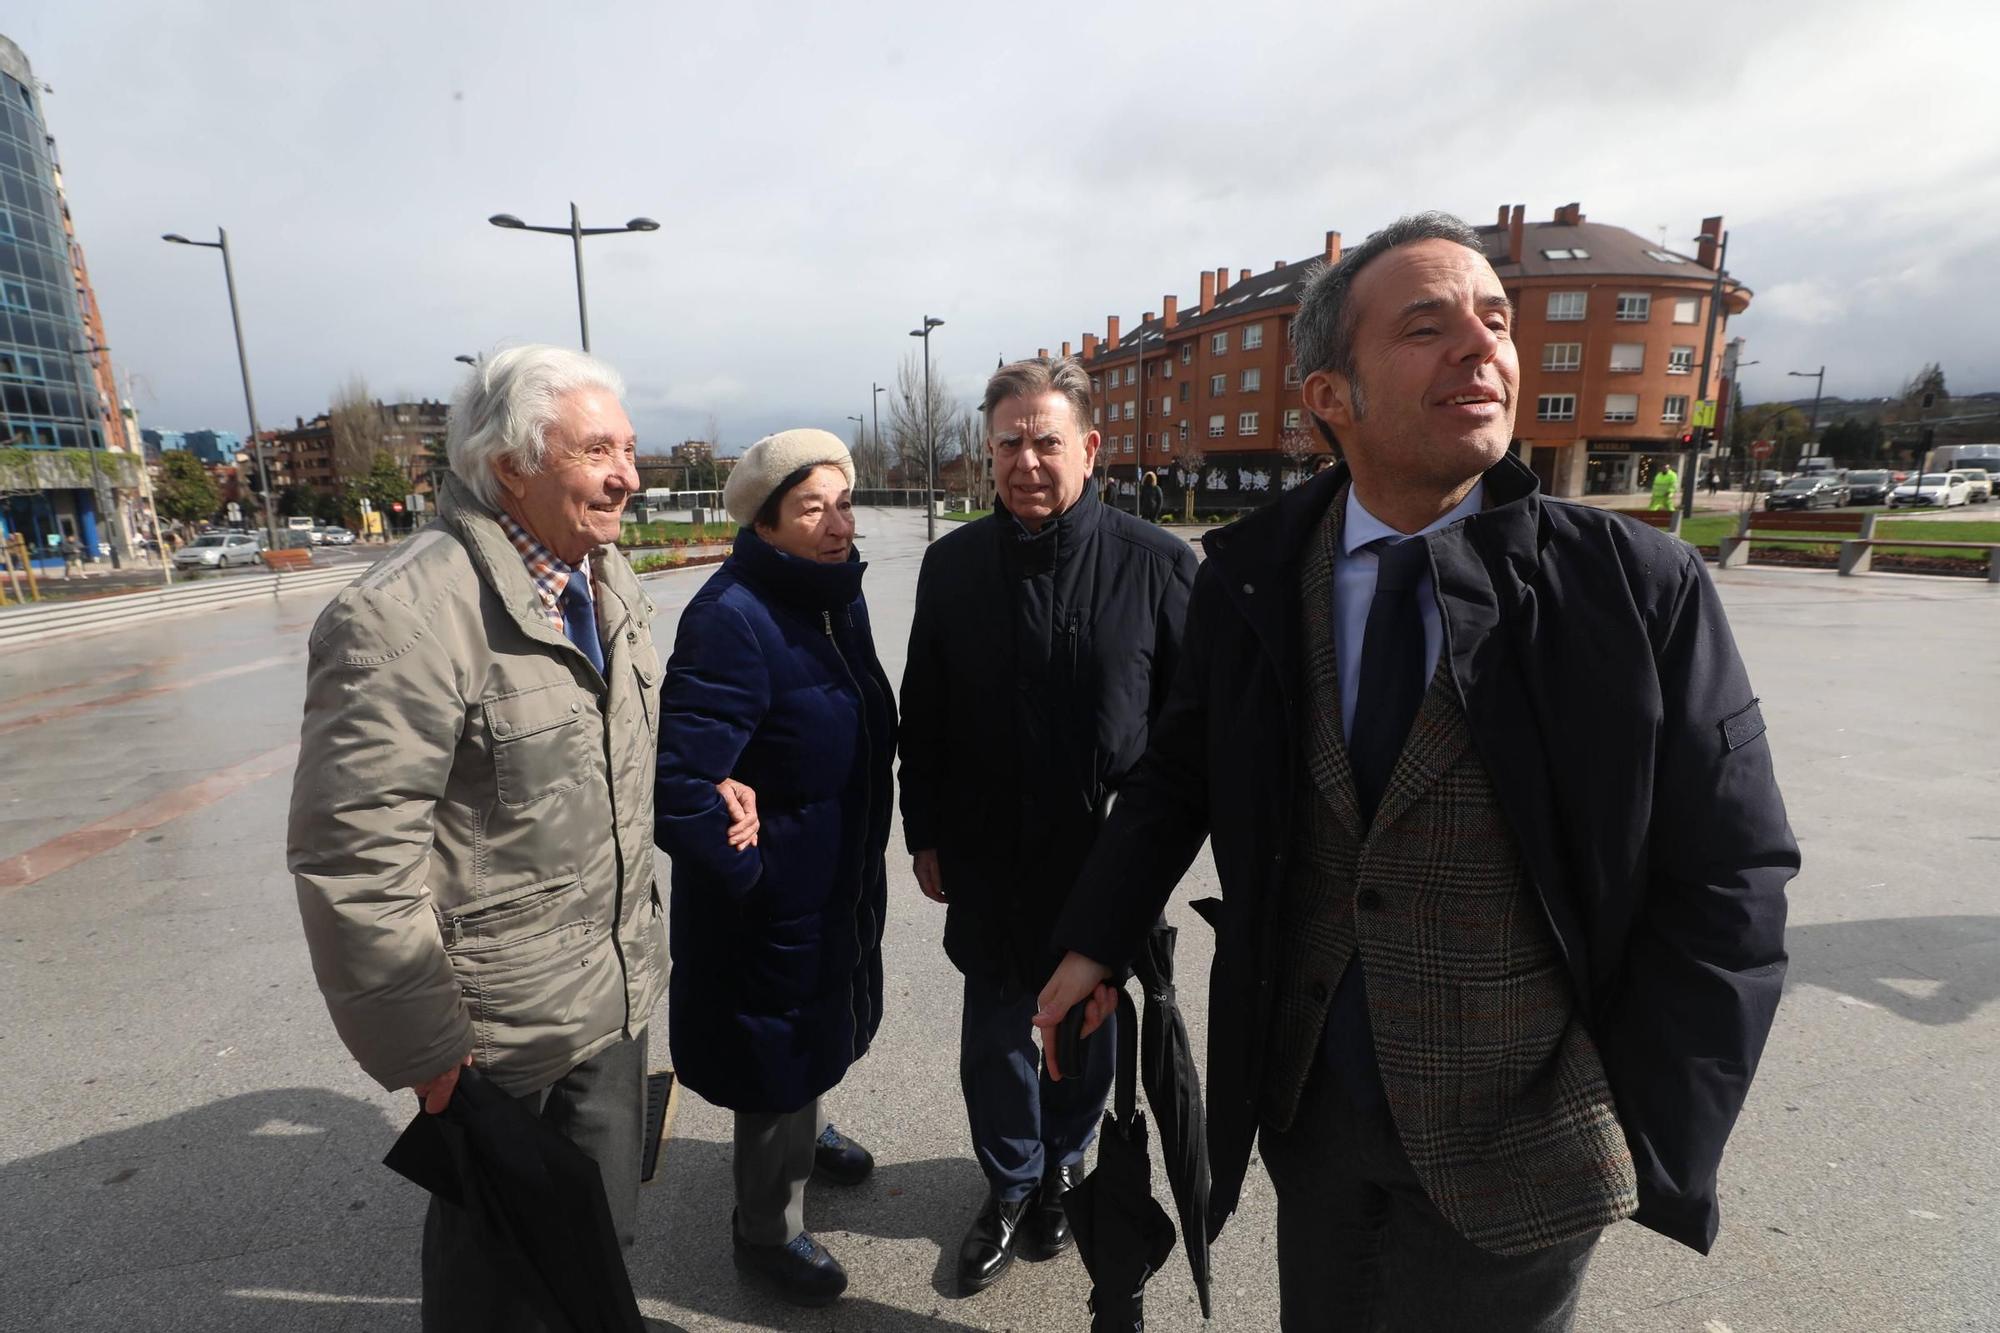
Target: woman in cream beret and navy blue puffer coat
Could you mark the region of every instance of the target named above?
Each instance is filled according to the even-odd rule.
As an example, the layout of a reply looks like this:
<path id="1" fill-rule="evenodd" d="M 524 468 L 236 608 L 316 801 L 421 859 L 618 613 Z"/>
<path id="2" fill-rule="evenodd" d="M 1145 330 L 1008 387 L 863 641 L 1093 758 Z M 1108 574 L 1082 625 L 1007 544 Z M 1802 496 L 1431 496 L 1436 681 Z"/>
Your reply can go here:
<path id="1" fill-rule="evenodd" d="M 838 436 L 752 444 L 724 490 L 730 558 L 680 614 L 660 695 L 654 827 L 674 861 L 668 1041 L 686 1087 L 736 1113 L 736 1267 L 800 1305 L 846 1273 L 804 1227 L 806 1179 L 874 1167 L 820 1097 L 882 1021 L 896 695 L 854 552 Z M 756 795 L 730 843 L 716 791 Z"/>

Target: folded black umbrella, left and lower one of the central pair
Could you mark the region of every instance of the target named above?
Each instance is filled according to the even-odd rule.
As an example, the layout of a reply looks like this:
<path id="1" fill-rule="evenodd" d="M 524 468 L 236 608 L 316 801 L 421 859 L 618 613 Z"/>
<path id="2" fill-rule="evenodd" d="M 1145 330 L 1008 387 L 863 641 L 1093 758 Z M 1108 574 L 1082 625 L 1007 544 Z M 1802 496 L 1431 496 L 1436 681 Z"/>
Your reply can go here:
<path id="1" fill-rule="evenodd" d="M 1146 1117 L 1138 1109 L 1138 1015 L 1118 987 L 1118 1079 L 1098 1163 L 1062 1199 L 1090 1271 L 1090 1333 L 1140 1333 L 1146 1279 L 1174 1253 L 1174 1223 L 1152 1197 Z"/>

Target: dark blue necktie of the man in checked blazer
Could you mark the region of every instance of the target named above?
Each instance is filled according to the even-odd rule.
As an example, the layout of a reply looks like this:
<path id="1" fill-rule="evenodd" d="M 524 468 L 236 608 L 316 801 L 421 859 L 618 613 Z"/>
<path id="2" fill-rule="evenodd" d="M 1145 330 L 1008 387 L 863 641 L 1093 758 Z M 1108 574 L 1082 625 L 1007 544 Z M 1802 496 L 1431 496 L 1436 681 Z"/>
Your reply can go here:
<path id="1" fill-rule="evenodd" d="M 1422 538 L 1384 536 L 1370 542 L 1378 552 L 1376 590 L 1368 602 L 1362 636 L 1362 679 L 1354 695 L 1354 797 L 1362 823 L 1374 823 L 1388 777 L 1396 771 L 1410 725 L 1424 701 L 1424 612 L 1416 584 L 1430 568 Z M 1376 1065 L 1374 1027 L 1368 1021 L 1368 977 L 1356 953 L 1326 1013 L 1326 1061 L 1348 1099 L 1364 1111 L 1384 1105 L 1382 1073 Z"/>

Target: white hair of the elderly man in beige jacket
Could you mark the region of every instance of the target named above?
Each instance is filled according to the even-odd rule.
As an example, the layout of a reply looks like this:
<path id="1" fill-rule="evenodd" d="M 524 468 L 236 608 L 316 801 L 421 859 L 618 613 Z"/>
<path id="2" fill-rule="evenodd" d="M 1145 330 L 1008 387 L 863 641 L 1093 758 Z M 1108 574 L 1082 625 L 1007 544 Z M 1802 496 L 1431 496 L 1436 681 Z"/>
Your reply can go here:
<path id="1" fill-rule="evenodd" d="M 510 458 L 526 474 L 548 458 L 548 428 L 562 398 L 602 388 L 624 398 L 624 378 L 588 352 L 530 342 L 480 356 L 452 396 L 444 454 L 482 504 L 500 508 L 494 464 Z"/>

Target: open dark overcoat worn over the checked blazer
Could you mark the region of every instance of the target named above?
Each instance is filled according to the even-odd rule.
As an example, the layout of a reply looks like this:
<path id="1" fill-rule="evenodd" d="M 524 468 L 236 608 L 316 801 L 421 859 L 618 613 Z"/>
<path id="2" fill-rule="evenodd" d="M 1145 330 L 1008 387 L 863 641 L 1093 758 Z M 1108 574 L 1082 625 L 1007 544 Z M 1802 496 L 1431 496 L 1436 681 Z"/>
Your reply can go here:
<path id="1" fill-rule="evenodd" d="M 1302 771 L 1298 568 L 1346 480 L 1332 468 L 1208 534 L 1172 697 L 1056 927 L 1064 949 L 1128 961 L 1214 841 L 1222 899 L 1198 905 L 1216 925 L 1212 1231 L 1258 1131 L 1266 925 Z M 1430 552 L 1452 681 L 1604 1061 L 1638 1221 L 1706 1253 L 1722 1145 L 1784 989 L 1798 873 L 1720 598 L 1694 546 L 1546 500 L 1514 456 Z"/>

